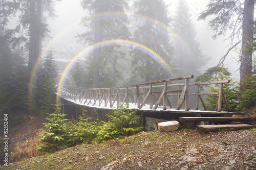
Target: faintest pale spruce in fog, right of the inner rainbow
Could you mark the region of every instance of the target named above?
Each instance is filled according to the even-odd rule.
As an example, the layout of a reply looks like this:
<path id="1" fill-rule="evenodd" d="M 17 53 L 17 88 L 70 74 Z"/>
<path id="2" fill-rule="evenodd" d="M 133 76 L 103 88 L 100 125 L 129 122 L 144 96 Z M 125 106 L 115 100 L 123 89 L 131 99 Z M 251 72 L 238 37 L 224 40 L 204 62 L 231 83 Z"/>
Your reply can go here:
<path id="1" fill-rule="evenodd" d="M 176 76 L 199 76 L 200 67 L 205 64 L 199 43 L 195 37 L 196 31 L 193 22 L 188 18 L 189 8 L 185 0 L 180 0 L 177 14 L 174 17 L 174 30 L 188 46 L 175 42 L 174 63 L 177 65 Z"/>

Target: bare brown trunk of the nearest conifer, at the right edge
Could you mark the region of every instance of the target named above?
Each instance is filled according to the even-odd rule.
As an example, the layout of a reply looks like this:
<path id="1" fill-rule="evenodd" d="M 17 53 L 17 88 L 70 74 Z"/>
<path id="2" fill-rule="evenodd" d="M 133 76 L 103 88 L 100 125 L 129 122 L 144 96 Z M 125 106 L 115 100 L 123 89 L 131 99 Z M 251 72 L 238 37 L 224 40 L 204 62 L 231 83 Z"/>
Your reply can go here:
<path id="1" fill-rule="evenodd" d="M 242 90 L 246 88 L 242 85 L 242 82 L 246 79 L 246 76 L 251 75 L 252 68 L 253 12 L 254 0 L 245 0 L 240 65 L 240 84 Z"/>

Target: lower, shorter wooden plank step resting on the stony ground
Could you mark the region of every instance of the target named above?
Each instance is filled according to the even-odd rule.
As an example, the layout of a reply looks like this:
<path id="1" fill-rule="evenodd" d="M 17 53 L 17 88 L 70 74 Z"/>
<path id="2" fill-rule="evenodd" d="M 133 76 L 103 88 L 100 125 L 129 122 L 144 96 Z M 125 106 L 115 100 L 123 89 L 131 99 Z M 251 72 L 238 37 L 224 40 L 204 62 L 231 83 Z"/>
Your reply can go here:
<path id="1" fill-rule="evenodd" d="M 199 125 L 196 126 L 199 133 L 216 132 L 216 131 L 234 131 L 241 129 L 254 128 L 253 125 L 239 124 L 239 125 Z"/>

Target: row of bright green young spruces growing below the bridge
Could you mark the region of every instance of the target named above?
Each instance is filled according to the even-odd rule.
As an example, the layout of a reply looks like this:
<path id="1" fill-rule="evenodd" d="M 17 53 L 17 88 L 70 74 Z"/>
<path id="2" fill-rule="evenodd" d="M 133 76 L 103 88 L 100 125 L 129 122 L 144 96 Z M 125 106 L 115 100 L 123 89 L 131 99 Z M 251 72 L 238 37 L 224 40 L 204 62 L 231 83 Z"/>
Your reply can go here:
<path id="1" fill-rule="evenodd" d="M 55 152 L 81 143 L 121 139 L 134 135 L 143 128 L 137 127 L 136 111 L 123 106 L 118 106 L 116 110 L 106 114 L 106 122 L 99 119 L 91 121 L 83 108 L 78 121 L 64 119 L 65 114 L 59 113 L 59 110 L 60 105 L 56 105 L 55 113 L 49 114 L 46 118 L 48 123 L 44 124 L 45 129 L 38 135 L 39 140 L 44 143 L 37 148 L 40 152 Z"/>

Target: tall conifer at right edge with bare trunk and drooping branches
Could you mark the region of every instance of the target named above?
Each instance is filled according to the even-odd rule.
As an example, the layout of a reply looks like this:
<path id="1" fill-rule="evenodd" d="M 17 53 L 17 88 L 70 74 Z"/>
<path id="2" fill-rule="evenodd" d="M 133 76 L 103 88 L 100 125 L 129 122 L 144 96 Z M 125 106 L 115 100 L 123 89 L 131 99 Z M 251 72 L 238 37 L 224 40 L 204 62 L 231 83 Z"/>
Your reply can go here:
<path id="1" fill-rule="evenodd" d="M 242 32 L 242 47 L 240 56 L 240 82 L 246 80 L 247 76 L 251 75 L 252 69 L 252 52 L 253 52 L 253 13 L 254 13 L 254 0 L 234 1 L 234 0 L 211 0 L 207 5 L 208 9 L 203 11 L 199 19 L 205 19 L 208 16 L 214 15 L 215 18 L 209 21 L 209 26 L 215 32 L 214 38 L 224 35 L 227 30 L 231 30 L 229 40 L 232 50 L 234 46 L 241 45 L 241 32 Z M 225 57 L 224 55 L 218 64 L 220 66 Z M 242 86 L 241 89 L 246 87 Z"/>

